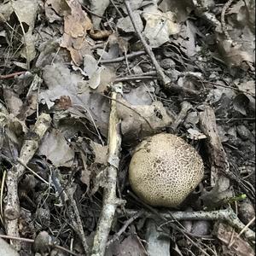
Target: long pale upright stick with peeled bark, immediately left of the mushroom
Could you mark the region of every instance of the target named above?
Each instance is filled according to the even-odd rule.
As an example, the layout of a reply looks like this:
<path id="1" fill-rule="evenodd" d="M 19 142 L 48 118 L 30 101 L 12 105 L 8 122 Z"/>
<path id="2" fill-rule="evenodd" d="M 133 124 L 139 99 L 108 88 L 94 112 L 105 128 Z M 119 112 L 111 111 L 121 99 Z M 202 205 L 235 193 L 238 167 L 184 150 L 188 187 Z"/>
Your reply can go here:
<path id="1" fill-rule="evenodd" d="M 108 174 L 107 184 L 103 193 L 102 212 L 97 224 L 96 234 L 94 236 L 92 256 L 104 256 L 108 234 L 113 222 L 113 216 L 118 205 L 123 201 L 116 196 L 117 171 L 119 168 L 119 151 L 121 146 L 121 137 L 119 130 L 119 118 L 117 115 L 117 90 L 119 84 L 115 84 L 112 93 L 111 112 L 109 116 L 108 128 Z"/>

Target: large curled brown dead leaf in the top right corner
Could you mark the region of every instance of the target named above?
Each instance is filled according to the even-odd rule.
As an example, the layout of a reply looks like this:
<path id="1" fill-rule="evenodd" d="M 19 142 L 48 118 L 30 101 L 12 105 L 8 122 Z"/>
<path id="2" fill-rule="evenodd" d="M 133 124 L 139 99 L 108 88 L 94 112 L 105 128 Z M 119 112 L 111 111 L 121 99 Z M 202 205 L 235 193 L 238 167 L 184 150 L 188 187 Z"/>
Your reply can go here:
<path id="1" fill-rule="evenodd" d="M 217 30 L 217 43 L 223 60 L 229 67 L 251 69 L 255 62 L 255 2 L 238 1 L 225 14 L 226 38 L 221 28 Z M 253 13 L 254 12 L 254 13 Z M 254 24 L 252 26 L 252 24 Z"/>

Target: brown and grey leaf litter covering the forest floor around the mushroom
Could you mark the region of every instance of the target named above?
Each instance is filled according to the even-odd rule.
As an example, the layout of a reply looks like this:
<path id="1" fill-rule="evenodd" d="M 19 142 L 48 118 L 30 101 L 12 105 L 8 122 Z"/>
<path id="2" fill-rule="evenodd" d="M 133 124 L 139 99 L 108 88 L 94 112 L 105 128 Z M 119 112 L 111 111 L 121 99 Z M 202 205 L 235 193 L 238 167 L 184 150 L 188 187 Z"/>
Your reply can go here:
<path id="1" fill-rule="evenodd" d="M 111 92 L 122 83 L 116 98 L 122 203 L 105 255 L 151 255 L 164 247 L 166 256 L 253 255 L 247 234 L 255 231 L 255 1 L 130 1 L 130 7 L 134 20 L 125 1 L 0 1 L 0 221 L 3 234 L 19 236 L 10 239 L 12 247 L 3 236 L 0 253 L 95 250 L 102 189 L 116 163 L 108 158 Z M 148 210 L 132 196 L 133 149 L 163 131 L 185 138 L 205 160 L 200 188 L 173 212 L 231 207 L 243 228 L 179 218 L 183 232 L 170 232 L 168 209 Z M 146 218 L 157 226 L 151 234 Z"/>

